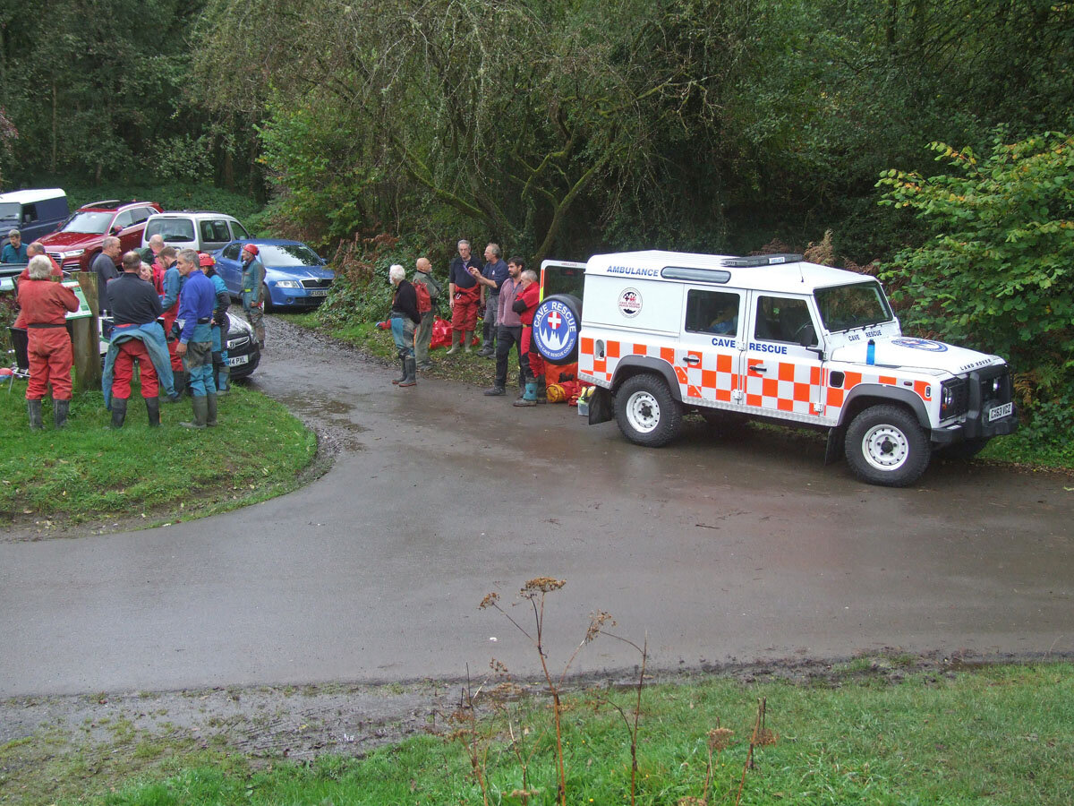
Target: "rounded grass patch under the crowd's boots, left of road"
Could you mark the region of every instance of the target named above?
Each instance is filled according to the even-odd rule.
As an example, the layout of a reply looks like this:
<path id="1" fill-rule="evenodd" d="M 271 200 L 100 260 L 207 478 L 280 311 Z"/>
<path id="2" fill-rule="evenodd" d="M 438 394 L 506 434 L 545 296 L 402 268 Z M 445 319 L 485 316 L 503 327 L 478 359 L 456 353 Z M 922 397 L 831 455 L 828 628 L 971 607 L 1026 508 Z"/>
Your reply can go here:
<path id="1" fill-rule="evenodd" d="M 136 386 L 136 385 L 135 385 Z M 76 394 L 63 431 L 27 428 L 26 401 L 0 393 L 0 523 L 47 534 L 71 524 L 130 518 L 153 526 L 279 495 L 300 484 L 317 451 L 315 434 L 279 403 L 240 384 L 219 399 L 220 426 L 179 427 L 189 399 L 161 404 L 149 429 L 139 391 L 122 429 L 99 391 Z"/>

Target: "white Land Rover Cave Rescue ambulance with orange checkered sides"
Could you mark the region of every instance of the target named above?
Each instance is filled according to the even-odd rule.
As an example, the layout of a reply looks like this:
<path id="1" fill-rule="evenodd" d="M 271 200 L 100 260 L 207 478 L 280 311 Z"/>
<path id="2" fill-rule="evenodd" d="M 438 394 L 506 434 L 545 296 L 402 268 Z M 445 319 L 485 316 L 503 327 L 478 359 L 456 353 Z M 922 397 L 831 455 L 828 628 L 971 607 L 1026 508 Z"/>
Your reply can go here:
<path id="1" fill-rule="evenodd" d="M 614 416 L 639 445 L 673 440 L 687 411 L 800 424 L 827 430 L 827 461 L 845 451 L 861 479 L 901 487 L 933 449 L 968 458 L 1017 429 L 1003 359 L 903 336 L 868 275 L 800 255 L 635 251 L 584 265 L 584 310 L 546 298 L 534 340 L 551 362 L 577 355 L 597 387 L 590 423 Z"/>

